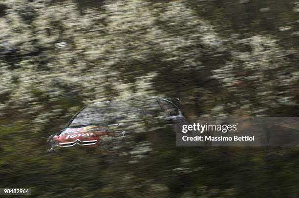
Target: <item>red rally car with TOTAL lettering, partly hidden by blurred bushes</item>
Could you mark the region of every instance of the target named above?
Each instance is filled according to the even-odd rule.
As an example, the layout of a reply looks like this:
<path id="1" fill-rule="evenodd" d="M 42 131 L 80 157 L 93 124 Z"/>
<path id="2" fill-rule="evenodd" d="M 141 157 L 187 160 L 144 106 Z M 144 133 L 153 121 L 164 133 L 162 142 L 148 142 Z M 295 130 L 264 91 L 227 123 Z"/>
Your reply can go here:
<path id="1" fill-rule="evenodd" d="M 116 106 L 117 108 L 113 108 Z M 144 107 L 153 107 L 165 111 L 165 120 L 173 124 L 174 128 L 188 124 L 179 108 L 167 99 L 160 97 L 148 98 L 145 100 Z M 104 141 L 107 140 L 107 137 L 121 142 L 125 138 L 126 132 L 123 127 L 125 124 L 120 122 L 123 120 L 121 111 L 113 112 L 118 108 L 121 108 L 119 104 L 109 101 L 87 105 L 73 116 L 63 130 L 49 136 L 47 139 L 49 146 L 47 152 L 64 147 L 103 148 L 113 146 L 113 143 L 107 144 L 109 141 Z M 142 114 L 147 113 L 147 109 L 132 107 L 131 113 L 142 116 Z M 106 116 L 107 114 L 109 116 Z"/>

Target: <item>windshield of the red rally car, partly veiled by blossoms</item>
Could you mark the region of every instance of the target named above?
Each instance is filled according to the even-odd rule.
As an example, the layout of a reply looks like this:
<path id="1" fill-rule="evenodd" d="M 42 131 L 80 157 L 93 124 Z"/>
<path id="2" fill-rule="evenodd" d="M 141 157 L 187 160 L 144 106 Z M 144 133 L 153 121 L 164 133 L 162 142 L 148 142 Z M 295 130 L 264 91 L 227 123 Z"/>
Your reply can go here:
<path id="1" fill-rule="evenodd" d="M 98 125 L 107 126 L 117 123 L 122 116 L 115 115 L 117 106 L 112 104 L 93 104 L 85 107 L 71 121 L 69 127 Z"/>

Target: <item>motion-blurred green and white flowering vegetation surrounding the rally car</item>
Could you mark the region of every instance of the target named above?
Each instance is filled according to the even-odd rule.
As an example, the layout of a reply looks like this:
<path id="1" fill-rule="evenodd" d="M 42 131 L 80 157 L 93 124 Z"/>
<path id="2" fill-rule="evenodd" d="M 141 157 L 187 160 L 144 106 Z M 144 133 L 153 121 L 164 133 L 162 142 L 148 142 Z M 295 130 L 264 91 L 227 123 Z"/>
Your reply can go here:
<path id="1" fill-rule="evenodd" d="M 297 117 L 298 13 L 295 0 L 2 0 L 0 186 L 41 198 L 299 197 L 297 148 L 176 147 L 159 117 L 128 126 L 115 150 L 44 152 L 95 100 Z"/>

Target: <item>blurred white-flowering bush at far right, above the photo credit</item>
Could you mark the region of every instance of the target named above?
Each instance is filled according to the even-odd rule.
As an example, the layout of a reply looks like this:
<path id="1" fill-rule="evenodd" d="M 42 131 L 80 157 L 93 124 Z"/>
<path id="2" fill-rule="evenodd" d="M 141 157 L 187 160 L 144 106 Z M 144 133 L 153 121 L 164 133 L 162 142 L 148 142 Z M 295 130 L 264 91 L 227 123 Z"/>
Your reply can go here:
<path id="1" fill-rule="evenodd" d="M 233 96 L 231 102 L 245 108 L 248 115 L 269 115 L 271 109 L 297 105 L 293 91 L 285 83 L 297 69 L 290 66 L 289 52 L 279 47 L 277 39 L 252 36 L 232 42 L 250 50 L 232 49 L 232 59 L 213 70 L 212 76 Z"/>

